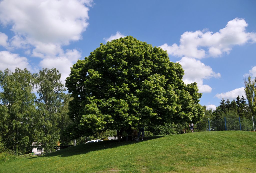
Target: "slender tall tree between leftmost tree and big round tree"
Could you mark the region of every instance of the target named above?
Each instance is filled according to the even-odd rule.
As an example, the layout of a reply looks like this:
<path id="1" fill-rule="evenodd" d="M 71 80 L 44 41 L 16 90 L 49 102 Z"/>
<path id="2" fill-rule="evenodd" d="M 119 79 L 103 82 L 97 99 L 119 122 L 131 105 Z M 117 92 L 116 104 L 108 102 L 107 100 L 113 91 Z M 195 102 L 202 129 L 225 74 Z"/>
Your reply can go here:
<path id="1" fill-rule="evenodd" d="M 40 70 L 36 78 L 38 94 L 38 119 L 35 122 L 36 145 L 42 146 L 45 153 L 55 151 L 54 146 L 60 140 L 60 127 L 64 125 L 59 122 L 65 118 L 63 115 L 68 117 L 67 111 L 66 114 L 62 114 L 62 110 L 64 100 L 68 99 L 69 95 L 64 93 L 66 89 L 64 89 L 64 84 L 60 82 L 60 78 L 61 74 L 54 68 Z"/>

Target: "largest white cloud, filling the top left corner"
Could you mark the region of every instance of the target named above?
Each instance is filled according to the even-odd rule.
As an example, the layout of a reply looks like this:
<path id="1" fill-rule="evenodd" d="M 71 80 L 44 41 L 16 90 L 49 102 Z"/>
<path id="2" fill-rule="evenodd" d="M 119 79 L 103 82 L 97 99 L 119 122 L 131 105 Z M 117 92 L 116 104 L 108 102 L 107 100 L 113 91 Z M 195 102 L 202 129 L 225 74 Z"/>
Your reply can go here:
<path id="1" fill-rule="evenodd" d="M 0 11 L 0 21 L 11 24 L 13 32 L 32 45 L 69 44 L 81 39 L 89 24 L 89 8 L 77 0 L 3 0 Z"/>

